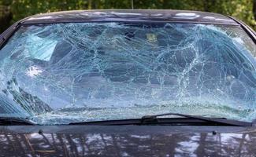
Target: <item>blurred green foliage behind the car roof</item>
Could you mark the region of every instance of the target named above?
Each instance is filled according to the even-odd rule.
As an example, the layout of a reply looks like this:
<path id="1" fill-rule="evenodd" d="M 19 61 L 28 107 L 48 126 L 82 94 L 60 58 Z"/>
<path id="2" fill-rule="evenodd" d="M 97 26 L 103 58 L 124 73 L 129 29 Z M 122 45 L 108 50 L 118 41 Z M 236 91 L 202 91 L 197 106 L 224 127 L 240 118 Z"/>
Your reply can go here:
<path id="1" fill-rule="evenodd" d="M 135 9 L 190 9 L 222 13 L 256 30 L 256 0 L 133 0 Z M 72 9 L 131 9 L 132 0 L 0 0 L 0 33 L 36 13 Z"/>

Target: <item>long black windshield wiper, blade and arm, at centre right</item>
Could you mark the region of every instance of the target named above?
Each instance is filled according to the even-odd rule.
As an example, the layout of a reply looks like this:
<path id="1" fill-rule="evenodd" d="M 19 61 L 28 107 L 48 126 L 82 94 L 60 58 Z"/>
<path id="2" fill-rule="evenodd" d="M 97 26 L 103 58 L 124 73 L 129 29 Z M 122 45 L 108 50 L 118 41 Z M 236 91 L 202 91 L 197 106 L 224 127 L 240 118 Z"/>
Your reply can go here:
<path id="1" fill-rule="evenodd" d="M 165 115 L 177 115 L 185 118 L 158 118 Z M 121 126 L 121 125 L 176 125 L 176 126 L 252 126 L 251 122 L 241 122 L 224 118 L 208 118 L 198 115 L 165 113 L 159 115 L 145 115 L 141 119 L 103 120 L 93 122 L 71 122 L 69 125 L 90 126 Z"/>

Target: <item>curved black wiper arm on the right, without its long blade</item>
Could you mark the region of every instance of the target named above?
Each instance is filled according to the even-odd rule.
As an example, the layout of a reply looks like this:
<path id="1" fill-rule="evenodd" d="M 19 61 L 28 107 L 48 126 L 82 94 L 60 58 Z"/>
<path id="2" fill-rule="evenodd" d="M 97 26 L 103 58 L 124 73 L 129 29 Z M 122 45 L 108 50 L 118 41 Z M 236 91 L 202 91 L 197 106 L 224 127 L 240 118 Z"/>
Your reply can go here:
<path id="1" fill-rule="evenodd" d="M 165 115 L 177 115 L 181 117 L 185 117 L 188 119 L 198 119 L 205 122 L 213 122 L 217 124 L 222 125 L 228 125 L 228 126 L 252 126 L 251 122 L 242 122 L 232 119 L 224 119 L 224 118 L 209 118 L 209 117 L 203 117 L 198 115 L 186 115 L 186 114 L 180 114 L 180 113 L 165 113 L 165 114 L 159 114 L 159 115 L 145 115 L 141 119 L 143 122 L 155 122 L 158 120 L 158 117 L 165 116 Z"/>

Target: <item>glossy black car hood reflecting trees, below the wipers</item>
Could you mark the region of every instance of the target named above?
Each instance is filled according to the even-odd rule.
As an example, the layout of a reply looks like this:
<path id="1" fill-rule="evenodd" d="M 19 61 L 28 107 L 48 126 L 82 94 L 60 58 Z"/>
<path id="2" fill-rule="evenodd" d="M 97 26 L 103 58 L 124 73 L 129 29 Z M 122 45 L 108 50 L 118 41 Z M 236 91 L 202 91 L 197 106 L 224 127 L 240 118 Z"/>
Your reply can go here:
<path id="1" fill-rule="evenodd" d="M 0 126 L 0 156 L 255 156 L 255 127 Z"/>

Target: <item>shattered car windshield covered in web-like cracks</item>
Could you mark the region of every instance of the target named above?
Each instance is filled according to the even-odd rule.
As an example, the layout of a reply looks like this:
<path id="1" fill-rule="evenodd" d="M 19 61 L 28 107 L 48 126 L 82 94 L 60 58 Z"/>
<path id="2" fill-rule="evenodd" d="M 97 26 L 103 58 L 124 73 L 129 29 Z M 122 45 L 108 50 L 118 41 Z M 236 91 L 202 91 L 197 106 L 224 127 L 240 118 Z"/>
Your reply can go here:
<path id="1" fill-rule="evenodd" d="M 251 121 L 254 55 L 234 26 L 22 26 L 0 50 L 0 116 L 49 125 L 165 112 Z"/>

